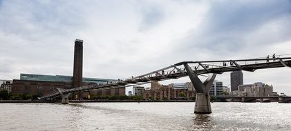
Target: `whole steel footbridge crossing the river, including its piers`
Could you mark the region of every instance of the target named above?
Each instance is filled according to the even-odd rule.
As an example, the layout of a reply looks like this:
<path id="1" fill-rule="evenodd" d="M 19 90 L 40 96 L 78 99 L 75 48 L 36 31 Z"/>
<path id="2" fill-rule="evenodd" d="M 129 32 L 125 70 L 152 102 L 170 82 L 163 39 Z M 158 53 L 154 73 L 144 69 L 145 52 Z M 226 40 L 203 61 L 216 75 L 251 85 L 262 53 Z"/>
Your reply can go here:
<path id="1" fill-rule="evenodd" d="M 155 70 L 147 74 L 135 77 L 120 79 L 107 84 L 85 85 L 79 88 L 59 89 L 57 88 L 50 94 L 40 97 L 39 100 L 53 99 L 62 97 L 62 103 L 68 103 L 68 96 L 72 92 L 82 92 L 96 89 L 124 88 L 133 85 L 142 85 L 151 83 L 151 81 L 164 81 L 167 79 L 178 79 L 180 77 L 189 77 L 196 90 L 196 101 L 194 113 L 210 114 L 212 108 L 209 99 L 209 90 L 216 77 L 216 74 L 223 72 L 232 72 L 244 70 L 254 72 L 255 70 L 268 68 L 291 67 L 291 57 L 273 57 L 263 59 L 236 59 L 220 61 L 182 61 L 160 70 Z M 202 82 L 198 76 L 208 77 Z"/>

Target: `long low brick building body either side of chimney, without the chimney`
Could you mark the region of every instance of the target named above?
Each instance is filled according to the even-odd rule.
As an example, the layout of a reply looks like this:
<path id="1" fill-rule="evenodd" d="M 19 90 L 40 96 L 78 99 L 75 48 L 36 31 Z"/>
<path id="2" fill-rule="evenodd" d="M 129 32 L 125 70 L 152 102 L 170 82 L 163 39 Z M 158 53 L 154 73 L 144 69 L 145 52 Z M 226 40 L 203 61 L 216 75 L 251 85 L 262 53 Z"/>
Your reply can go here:
<path id="1" fill-rule="evenodd" d="M 41 74 L 20 74 L 20 79 L 14 79 L 12 83 L 12 94 L 37 94 L 39 96 L 43 96 L 49 94 L 56 88 L 61 89 L 71 89 L 72 88 L 72 79 L 70 76 L 62 76 L 62 75 L 41 75 Z M 105 84 L 109 82 L 116 81 L 115 79 L 95 79 L 95 78 L 83 78 L 82 85 L 89 84 Z M 115 89 L 111 89 L 115 90 Z M 122 92 L 124 90 L 124 92 Z M 82 99 L 84 97 L 88 97 L 88 95 L 94 94 L 97 92 L 95 90 L 82 92 Z M 113 92 L 113 91 L 111 91 Z M 125 88 L 120 88 L 118 95 L 124 95 Z M 106 95 L 106 94 L 102 94 Z M 75 95 L 73 95 L 75 99 Z"/>

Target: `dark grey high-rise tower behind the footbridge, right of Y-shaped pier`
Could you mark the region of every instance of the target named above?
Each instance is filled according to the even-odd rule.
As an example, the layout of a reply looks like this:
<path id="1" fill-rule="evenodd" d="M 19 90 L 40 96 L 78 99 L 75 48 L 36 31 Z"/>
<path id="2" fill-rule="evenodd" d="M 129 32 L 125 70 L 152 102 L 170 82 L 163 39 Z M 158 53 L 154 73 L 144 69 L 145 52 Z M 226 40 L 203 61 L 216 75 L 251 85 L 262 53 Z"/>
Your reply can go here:
<path id="1" fill-rule="evenodd" d="M 243 85 L 243 72 L 241 70 L 230 73 L 231 91 L 238 90 L 238 85 Z"/>

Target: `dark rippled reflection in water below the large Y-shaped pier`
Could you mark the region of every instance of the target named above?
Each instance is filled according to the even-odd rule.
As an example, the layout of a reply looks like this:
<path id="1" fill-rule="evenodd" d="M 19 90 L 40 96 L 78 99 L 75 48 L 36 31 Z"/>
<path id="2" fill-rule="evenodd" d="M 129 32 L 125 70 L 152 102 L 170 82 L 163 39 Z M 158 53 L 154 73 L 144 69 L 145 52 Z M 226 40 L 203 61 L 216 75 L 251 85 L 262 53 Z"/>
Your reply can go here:
<path id="1" fill-rule="evenodd" d="M 194 114 L 192 118 L 193 130 L 214 130 L 214 121 L 210 114 Z"/>

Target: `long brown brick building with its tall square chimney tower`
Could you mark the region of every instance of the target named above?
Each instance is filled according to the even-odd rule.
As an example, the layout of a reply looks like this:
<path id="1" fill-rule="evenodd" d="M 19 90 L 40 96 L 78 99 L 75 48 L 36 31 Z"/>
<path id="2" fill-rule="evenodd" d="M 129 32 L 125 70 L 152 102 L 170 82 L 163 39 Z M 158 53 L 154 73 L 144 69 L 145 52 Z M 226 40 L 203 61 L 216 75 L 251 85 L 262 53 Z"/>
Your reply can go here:
<path id="1" fill-rule="evenodd" d="M 115 79 L 95 79 L 83 77 L 82 67 L 83 41 L 76 39 L 73 77 L 64 75 L 20 74 L 20 79 L 14 79 L 12 82 L 12 94 L 36 94 L 41 97 L 49 94 L 56 88 L 71 89 L 78 88 L 83 85 L 105 84 L 118 81 Z M 125 87 L 75 92 L 71 97 L 73 99 L 84 99 L 89 98 L 92 94 L 98 94 L 100 96 L 125 95 Z"/>

